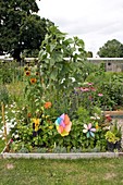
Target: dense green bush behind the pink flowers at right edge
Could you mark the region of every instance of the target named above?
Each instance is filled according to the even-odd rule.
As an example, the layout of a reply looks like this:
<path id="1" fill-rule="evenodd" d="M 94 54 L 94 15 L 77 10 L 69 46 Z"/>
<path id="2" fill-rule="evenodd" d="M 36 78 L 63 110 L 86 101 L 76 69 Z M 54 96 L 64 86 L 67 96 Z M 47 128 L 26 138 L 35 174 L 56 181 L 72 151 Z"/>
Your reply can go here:
<path id="1" fill-rule="evenodd" d="M 122 73 L 93 73 L 86 78 L 86 81 L 94 82 L 97 92 L 103 94 L 99 100 L 103 110 L 114 110 L 116 107 L 123 106 Z"/>

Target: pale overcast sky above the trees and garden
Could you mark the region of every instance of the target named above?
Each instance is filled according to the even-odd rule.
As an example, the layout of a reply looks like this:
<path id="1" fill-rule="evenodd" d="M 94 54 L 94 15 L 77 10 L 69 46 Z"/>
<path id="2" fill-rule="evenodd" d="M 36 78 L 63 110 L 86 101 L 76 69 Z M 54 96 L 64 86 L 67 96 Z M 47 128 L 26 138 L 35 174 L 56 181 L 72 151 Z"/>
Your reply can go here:
<path id="1" fill-rule="evenodd" d="M 108 40 L 123 44 L 123 0 L 37 0 L 40 17 L 67 37 L 77 36 L 94 57 Z"/>

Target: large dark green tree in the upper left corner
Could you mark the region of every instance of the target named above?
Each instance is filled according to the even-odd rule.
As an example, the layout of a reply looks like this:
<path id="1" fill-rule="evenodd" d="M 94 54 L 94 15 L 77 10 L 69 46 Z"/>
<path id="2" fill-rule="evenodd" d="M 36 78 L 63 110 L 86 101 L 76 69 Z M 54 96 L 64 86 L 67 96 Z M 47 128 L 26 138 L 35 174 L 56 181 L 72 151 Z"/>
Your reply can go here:
<path id="1" fill-rule="evenodd" d="M 0 53 L 10 53 L 17 61 L 25 50 L 39 50 L 48 20 L 36 13 L 34 0 L 0 1 Z"/>

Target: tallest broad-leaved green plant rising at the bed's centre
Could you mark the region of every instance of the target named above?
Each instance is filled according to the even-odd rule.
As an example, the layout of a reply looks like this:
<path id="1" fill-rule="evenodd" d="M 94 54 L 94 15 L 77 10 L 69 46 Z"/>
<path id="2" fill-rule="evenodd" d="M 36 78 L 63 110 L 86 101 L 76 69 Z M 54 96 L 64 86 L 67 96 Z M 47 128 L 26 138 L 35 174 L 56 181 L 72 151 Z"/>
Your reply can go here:
<path id="1" fill-rule="evenodd" d="M 67 112 L 71 104 L 69 97 L 74 87 L 83 82 L 86 61 L 84 41 L 77 37 L 66 38 L 66 34 L 50 26 L 40 47 L 39 61 L 45 89 L 53 91 L 56 103 L 64 102 L 64 111 Z"/>

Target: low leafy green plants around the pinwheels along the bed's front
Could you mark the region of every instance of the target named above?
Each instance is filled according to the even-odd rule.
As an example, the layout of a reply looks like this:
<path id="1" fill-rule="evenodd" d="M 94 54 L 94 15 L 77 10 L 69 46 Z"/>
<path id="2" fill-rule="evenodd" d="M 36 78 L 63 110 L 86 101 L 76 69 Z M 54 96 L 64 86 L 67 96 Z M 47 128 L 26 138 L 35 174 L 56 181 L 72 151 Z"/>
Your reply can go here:
<path id="1" fill-rule="evenodd" d="M 98 110 L 99 111 L 99 110 Z M 84 116 L 82 112 L 85 112 Z M 104 151 L 106 150 L 106 132 L 101 127 L 96 128 L 95 137 L 89 137 L 83 133 L 84 124 L 91 123 L 94 127 L 96 125 L 100 125 L 102 119 L 101 115 L 96 116 L 94 120 L 89 116 L 89 111 L 79 109 L 77 119 L 72 120 L 72 130 L 66 137 L 62 137 L 54 126 L 54 123 L 49 119 L 40 118 L 40 125 L 38 131 L 34 130 L 34 123 L 32 119 L 27 116 L 26 110 L 16 111 L 14 113 L 16 115 L 15 120 L 17 123 L 12 126 L 11 135 L 12 135 L 12 144 L 11 151 L 21 151 L 24 152 L 26 149 L 28 152 L 36 152 L 39 148 L 46 148 L 47 152 L 71 152 L 74 151 L 90 151 L 95 148 L 95 150 Z M 86 116 L 87 115 L 87 116 Z M 13 121 L 14 124 L 15 121 Z M 103 122 L 102 122 L 103 123 Z"/>

